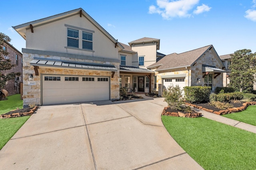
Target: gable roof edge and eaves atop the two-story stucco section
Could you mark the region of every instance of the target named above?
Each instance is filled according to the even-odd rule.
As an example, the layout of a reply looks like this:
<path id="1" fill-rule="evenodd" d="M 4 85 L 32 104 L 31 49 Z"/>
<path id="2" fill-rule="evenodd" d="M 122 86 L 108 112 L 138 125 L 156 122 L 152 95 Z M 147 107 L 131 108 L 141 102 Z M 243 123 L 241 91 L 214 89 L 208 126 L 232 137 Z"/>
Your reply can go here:
<path id="1" fill-rule="evenodd" d="M 124 49 L 120 43 L 114 37 L 112 37 L 100 24 L 98 24 L 91 16 L 89 16 L 82 8 L 78 8 L 75 10 L 71 10 L 68 12 L 64 12 L 61 14 L 57 14 L 54 16 L 50 16 L 47 18 L 42 18 L 40 20 L 35 20 L 27 23 L 23 23 L 21 25 L 13 26 L 13 29 L 15 29 L 25 40 L 26 40 L 26 29 L 31 29 L 35 27 L 39 27 L 40 25 L 44 25 L 47 23 L 51 23 L 63 18 L 68 18 L 74 15 L 80 15 L 84 16 L 87 20 L 89 20 L 95 27 L 97 27 L 106 37 L 108 37 L 113 43 L 117 43 L 118 47 L 120 49 Z"/>

